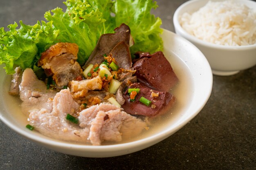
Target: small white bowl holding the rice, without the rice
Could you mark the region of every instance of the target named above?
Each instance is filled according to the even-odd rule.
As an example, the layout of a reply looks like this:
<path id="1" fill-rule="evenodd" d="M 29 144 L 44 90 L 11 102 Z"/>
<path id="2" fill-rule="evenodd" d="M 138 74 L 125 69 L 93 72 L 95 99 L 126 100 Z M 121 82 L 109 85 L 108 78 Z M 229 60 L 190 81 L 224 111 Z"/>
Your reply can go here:
<path id="1" fill-rule="evenodd" d="M 179 22 L 179 17 L 187 12 L 193 13 L 207 4 L 209 0 L 190 0 L 182 4 L 173 15 L 173 24 L 177 35 L 192 42 L 202 51 L 211 65 L 213 74 L 228 76 L 256 65 L 256 44 L 248 46 L 224 46 L 212 44 L 187 33 Z M 216 1 L 216 0 L 212 0 Z M 222 0 L 218 0 L 222 1 Z M 234 0 L 256 9 L 256 2 L 252 0 Z"/>

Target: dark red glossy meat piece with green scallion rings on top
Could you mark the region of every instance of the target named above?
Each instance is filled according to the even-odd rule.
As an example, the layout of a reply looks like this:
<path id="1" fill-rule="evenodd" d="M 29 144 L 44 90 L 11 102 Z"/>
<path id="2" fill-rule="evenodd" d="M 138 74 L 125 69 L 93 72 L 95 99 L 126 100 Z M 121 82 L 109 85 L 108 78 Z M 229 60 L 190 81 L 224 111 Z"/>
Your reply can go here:
<path id="1" fill-rule="evenodd" d="M 126 113 L 129 113 L 131 115 L 143 115 L 148 117 L 158 116 L 163 114 L 166 109 L 170 108 L 175 102 L 175 97 L 169 92 L 152 90 L 146 85 L 143 85 L 143 83 L 133 83 L 130 85 L 129 88 L 140 89 L 139 93 L 136 95 L 134 102 L 129 101 L 130 96 L 128 95 L 128 89 L 123 95 L 125 102 L 122 107 L 124 108 L 124 111 Z M 158 97 L 152 97 L 152 92 L 156 94 L 158 93 Z M 146 106 L 139 101 L 142 96 L 152 101 L 150 106 Z"/>

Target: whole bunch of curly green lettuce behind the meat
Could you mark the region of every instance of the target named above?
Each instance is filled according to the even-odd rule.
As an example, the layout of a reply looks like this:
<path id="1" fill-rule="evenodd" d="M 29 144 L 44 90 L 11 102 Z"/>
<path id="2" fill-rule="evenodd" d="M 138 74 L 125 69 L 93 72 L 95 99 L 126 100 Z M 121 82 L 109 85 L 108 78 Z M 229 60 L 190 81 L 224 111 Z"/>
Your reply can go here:
<path id="1" fill-rule="evenodd" d="M 0 28 L 0 65 L 7 74 L 13 68 L 33 68 L 41 52 L 57 42 L 76 43 L 78 62 L 83 65 L 102 34 L 113 33 L 120 24 L 131 29 L 135 45 L 131 52 L 153 53 L 162 50 L 162 21 L 150 13 L 157 8 L 153 0 L 67 0 L 67 9 L 55 8 L 45 13 L 47 22 L 34 26 L 10 24 L 9 31 Z"/>

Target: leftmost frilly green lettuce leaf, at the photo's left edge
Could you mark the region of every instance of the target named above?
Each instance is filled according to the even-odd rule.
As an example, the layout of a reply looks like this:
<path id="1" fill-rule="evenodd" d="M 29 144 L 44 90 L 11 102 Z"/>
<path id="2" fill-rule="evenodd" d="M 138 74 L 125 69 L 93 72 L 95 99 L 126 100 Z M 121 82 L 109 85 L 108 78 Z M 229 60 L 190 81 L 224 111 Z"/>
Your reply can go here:
<path id="1" fill-rule="evenodd" d="M 40 53 L 51 46 L 58 31 L 52 27 L 52 22 L 38 21 L 35 25 L 10 24 L 9 31 L 0 28 L 0 64 L 5 64 L 7 74 L 13 74 L 13 67 L 22 69 L 33 68 L 40 58 Z"/>

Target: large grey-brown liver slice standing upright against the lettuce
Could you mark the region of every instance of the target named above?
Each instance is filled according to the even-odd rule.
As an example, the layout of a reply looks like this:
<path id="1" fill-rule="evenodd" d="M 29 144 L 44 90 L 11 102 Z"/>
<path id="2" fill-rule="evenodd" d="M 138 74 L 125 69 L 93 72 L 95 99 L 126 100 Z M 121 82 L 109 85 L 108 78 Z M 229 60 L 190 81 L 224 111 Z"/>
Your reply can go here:
<path id="1" fill-rule="evenodd" d="M 104 61 L 104 54 L 109 54 L 111 50 L 117 46 L 121 41 L 124 44 L 132 46 L 134 44 L 132 37 L 130 35 L 130 28 L 126 24 L 121 24 L 119 27 L 115 28 L 115 33 L 103 34 L 99 38 L 96 47 L 92 51 L 89 59 L 86 61 L 83 68 L 85 69 L 89 64 L 101 64 Z M 123 45 L 122 45 L 123 46 Z M 127 47 L 126 47 L 127 48 Z M 126 55 L 128 57 L 128 55 Z M 125 59 L 129 60 L 129 59 Z M 119 66 L 120 67 L 120 66 Z"/>

